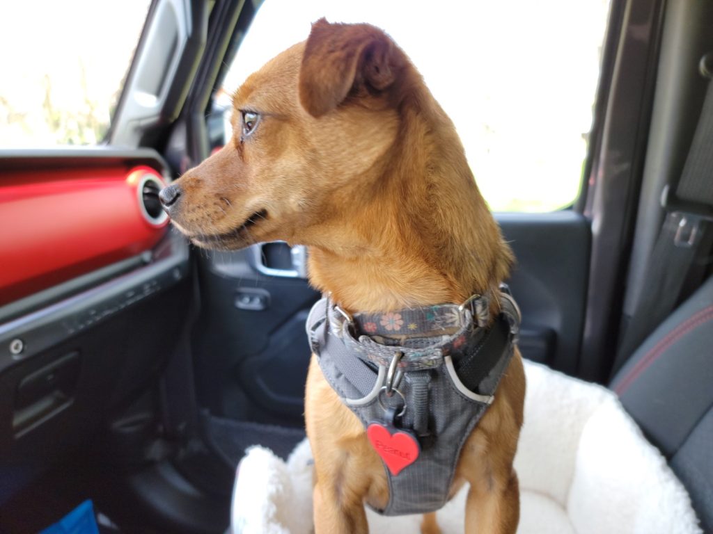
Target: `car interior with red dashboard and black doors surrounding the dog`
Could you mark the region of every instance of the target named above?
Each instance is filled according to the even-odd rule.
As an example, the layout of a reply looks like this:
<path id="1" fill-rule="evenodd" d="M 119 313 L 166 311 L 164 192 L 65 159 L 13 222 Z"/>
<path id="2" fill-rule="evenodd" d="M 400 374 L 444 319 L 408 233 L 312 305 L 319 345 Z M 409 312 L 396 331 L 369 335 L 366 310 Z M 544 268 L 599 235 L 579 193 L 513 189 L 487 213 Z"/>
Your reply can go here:
<path id="1" fill-rule="evenodd" d="M 309 251 L 198 250 L 158 202 L 225 142 L 260 3 L 153 0 L 103 144 L 0 148 L 0 532 L 91 498 L 110 532 L 224 533 L 245 449 L 304 438 Z M 578 198 L 496 213 L 523 356 L 612 389 L 706 532 L 712 25 L 712 2 L 612 0 Z"/>

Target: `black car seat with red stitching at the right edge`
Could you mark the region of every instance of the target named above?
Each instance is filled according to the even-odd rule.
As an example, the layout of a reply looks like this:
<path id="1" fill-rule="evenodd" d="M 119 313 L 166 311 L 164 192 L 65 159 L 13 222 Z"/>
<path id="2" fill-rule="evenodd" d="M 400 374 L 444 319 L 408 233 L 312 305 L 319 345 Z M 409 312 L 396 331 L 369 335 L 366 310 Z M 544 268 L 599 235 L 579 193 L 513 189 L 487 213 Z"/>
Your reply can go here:
<path id="1" fill-rule="evenodd" d="M 611 388 L 713 532 L 713 276 L 647 337 Z"/>

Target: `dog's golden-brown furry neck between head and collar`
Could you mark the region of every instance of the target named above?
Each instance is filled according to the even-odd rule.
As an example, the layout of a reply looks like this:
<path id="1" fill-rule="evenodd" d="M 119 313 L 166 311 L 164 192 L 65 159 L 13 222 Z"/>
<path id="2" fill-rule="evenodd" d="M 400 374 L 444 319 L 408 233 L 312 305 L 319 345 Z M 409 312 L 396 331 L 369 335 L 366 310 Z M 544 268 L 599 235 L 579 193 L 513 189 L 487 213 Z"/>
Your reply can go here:
<path id="1" fill-rule="evenodd" d="M 312 284 L 352 312 L 461 303 L 508 274 L 511 252 L 455 128 L 430 93 L 412 98 L 394 146 L 334 192 L 350 208 L 328 214 L 311 243 Z"/>

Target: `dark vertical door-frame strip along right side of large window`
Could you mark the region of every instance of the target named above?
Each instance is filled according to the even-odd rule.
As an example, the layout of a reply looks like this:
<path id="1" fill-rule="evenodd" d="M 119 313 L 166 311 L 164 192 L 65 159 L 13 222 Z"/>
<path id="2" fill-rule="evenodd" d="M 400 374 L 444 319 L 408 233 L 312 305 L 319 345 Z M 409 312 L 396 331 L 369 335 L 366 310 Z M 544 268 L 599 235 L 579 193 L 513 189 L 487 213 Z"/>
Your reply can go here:
<path id="1" fill-rule="evenodd" d="M 585 214 L 592 256 L 578 376 L 605 382 L 616 352 L 625 273 L 647 148 L 665 0 L 627 0 L 602 144 Z"/>

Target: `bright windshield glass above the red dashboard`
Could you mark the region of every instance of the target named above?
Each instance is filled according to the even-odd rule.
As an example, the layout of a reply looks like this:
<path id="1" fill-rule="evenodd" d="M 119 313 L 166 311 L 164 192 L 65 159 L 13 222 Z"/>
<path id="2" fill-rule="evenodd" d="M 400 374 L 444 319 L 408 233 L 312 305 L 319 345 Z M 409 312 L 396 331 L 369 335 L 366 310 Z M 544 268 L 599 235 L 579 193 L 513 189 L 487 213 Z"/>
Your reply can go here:
<path id="1" fill-rule="evenodd" d="M 149 5 L 0 2 L 0 146 L 101 142 Z"/>

